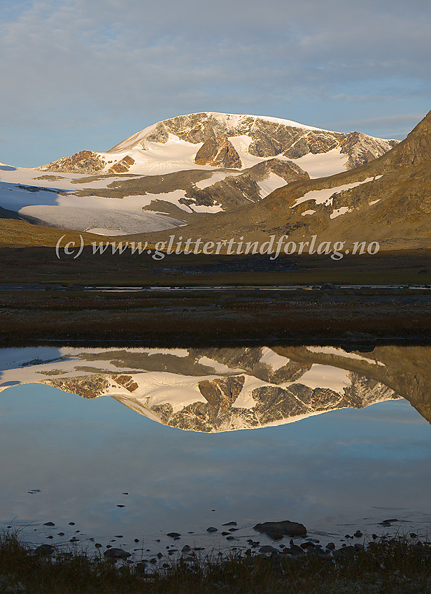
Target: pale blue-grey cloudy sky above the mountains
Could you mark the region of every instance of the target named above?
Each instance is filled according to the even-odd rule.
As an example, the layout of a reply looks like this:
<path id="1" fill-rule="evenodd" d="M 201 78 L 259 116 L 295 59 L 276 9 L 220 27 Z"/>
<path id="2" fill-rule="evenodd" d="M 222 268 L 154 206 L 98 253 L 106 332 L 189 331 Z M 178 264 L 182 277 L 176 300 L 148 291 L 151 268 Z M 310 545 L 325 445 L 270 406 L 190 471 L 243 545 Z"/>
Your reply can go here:
<path id="1" fill-rule="evenodd" d="M 431 109 L 430 17 L 429 0 L 0 0 L 0 161 L 199 111 L 402 139 Z"/>

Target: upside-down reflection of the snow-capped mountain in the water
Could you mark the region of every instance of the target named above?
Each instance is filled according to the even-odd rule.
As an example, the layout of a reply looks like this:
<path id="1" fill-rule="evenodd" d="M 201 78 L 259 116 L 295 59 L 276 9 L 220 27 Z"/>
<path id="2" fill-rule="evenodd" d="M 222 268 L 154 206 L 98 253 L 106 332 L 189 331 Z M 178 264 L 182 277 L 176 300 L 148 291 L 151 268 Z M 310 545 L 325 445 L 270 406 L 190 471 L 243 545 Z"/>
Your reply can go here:
<path id="1" fill-rule="evenodd" d="M 25 349 L 11 349 L 9 358 L 5 349 L 0 391 L 38 382 L 84 398 L 111 396 L 164 425 L 206 433 L 290 423 L 398 398 L 366 374 L 337 366 L 353 358 L 372 369 L 380 361 L 336 349 L 338 359 L 325 365 L 313 363 L 319 349 L 304 349 L 309 361 L 267 347 L 42 349 L 30 360 Z"/>

